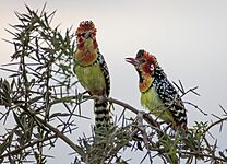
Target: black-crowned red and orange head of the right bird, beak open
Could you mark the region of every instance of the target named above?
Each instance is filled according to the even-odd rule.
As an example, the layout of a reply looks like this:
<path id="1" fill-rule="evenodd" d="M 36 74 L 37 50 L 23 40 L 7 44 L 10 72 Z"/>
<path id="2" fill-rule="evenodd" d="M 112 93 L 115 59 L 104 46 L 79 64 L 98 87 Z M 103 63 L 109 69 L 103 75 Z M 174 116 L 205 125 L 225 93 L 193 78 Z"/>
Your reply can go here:
<path id="1" fill-rule="evenodd" d="M 141 49 L 135 58 L 126 58 L 126 61 L 133 65 L 139 73 L 140 91 L 147 91 L 152 85 L 154 71 L 158 66 L 155 56 Z"/>

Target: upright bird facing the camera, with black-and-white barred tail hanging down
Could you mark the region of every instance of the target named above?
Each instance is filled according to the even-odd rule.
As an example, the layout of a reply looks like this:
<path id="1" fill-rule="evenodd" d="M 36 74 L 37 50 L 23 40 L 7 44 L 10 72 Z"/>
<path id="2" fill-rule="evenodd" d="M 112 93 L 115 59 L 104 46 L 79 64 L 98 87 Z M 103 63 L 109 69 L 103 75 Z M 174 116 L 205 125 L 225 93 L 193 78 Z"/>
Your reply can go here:
<path id="1" fill-rule="evenodd" d="M 76 32 L 76 51 L 74 54 L 74 72 L 81 85 L 89 95 L 109 96 L 109 71 L 104 56 L 98 49 L 96 28 L 92 21 L 80 23 Z M 95 128 L 110 125 L 108 103 L 95 101 Z"/>

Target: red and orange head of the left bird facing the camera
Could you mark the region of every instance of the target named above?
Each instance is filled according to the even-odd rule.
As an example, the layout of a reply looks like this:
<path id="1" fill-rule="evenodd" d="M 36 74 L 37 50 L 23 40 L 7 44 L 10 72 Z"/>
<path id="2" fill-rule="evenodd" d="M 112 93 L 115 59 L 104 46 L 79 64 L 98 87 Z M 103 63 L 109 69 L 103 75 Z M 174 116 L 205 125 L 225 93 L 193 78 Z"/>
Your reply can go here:
<path id="1" fill-rule="evenodd" d="M 98 45 L 96 42 L 96 28 L 92 21 L 80 23 L 76 32 L 77 50 L 75 59 L 83 66 L 93 63 L 97 58 Z"/>

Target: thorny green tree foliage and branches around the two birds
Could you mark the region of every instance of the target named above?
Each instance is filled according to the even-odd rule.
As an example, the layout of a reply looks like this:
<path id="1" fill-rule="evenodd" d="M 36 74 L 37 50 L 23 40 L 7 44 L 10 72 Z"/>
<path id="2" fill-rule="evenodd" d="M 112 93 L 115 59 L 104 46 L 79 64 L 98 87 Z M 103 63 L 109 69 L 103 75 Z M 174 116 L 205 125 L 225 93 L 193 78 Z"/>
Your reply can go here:
<path id="1" fill-rule="evenodd" d="M 51 27 L 55 12 L 47 12 L 45 7 L 34 11 L 26 5 L 26 11 L 15 13 L 20 23 L 7 30 L 13 37 L 7 42 L 14 46 L 14 54 L 12 61 L 1 67 L 10 75 L 0 80 L 0 122 L 3 126 L 13 120 L 15 126 L 0 136 L 1 163 L 47 163 L 50 156 L 45 148 L 51 150 L 59 139 L 74 152 L 73 163 L 130 163 L 122 157 L 126 150 L 134 154 L 145 152 L 141 163 L 152 163 L 154 159 L 164 163 L 227 162 L 227 150 L 217 150 L 215 137 L 207 139 L 212 128 L 227 120 L 222 106 L 223 117 L 216 116 L 213 122 L 194 122 L 186 134 L 116 98 L 79 94 L 72 71 L 75 45 L 71 30 L 62 34 L 59 26 Z M 184 90 L 181 83 L 176 86 L 181 96 L 198 95 L 196 87 Z M 121 108 L 115 126 L 98 141 L 94 136 L 83 134 L 70 139 L 68 134 L 80 128 L 74 120 L 85 118 L 80 115 L 81 104 L 97 98 L 109 102 L 111 109 Z M 126 112 L 133 113 L 134 118 L 129 118 Z"/>

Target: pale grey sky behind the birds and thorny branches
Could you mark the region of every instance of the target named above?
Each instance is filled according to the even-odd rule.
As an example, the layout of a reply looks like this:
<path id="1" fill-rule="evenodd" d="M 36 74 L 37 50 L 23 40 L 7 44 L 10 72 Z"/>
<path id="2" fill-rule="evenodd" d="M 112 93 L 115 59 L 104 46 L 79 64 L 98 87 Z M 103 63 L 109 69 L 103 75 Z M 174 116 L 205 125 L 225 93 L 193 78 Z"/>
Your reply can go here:
<path id="1" fill-rule="evenodd" d="M 199 105 L 208 116 L 187 106 L 189 127 L 214 119 L 211 114 L 222 115 L 219 104 L 227 108 L 226 0 L 2 0 L 0 37 L 10 38 L 4 28 L 17 23 L 14 11 L 25 12 L 24 3 L 41 9 L 45 2 L 48 11 L 57 10 L 53 26 L 61 23 L 62 30 L 75 30 L 83 20 L 95 23 L 111 75 L 110 96 L 142 109 L 138 73 L 124 58 L 143 48 L 157 57 L 169 80 L 181 80 L 186 89 L 199 86 L 201 96 L 189 95 L 184 101 Z M 10 61 L 13 46 L 0 40 L 0 47 L 2 65 Z M 0 71 L 0 77 L 7 74 Z M 219 141 L 227 145 L 224 134 Z M 67 151 L 64 154 L 71 152 Z M 64 162 L 71 160 L 63 157 Z"/>

